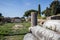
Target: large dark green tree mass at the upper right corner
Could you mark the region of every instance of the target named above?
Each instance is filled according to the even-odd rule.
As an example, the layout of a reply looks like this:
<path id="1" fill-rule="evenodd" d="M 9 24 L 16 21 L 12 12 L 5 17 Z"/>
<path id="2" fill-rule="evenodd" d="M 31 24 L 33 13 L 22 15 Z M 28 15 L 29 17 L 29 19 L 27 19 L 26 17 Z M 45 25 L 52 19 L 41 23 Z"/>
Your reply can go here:
<path id="1" fill-rule="evenodd" d="M 47 7 L 42 13 L 45 14 L 46 17 L 60 14 L 60 1 L 53 1 L 50 7 Z"/>

